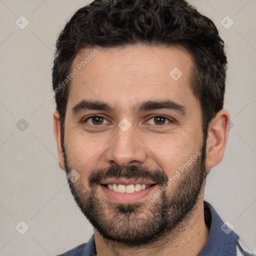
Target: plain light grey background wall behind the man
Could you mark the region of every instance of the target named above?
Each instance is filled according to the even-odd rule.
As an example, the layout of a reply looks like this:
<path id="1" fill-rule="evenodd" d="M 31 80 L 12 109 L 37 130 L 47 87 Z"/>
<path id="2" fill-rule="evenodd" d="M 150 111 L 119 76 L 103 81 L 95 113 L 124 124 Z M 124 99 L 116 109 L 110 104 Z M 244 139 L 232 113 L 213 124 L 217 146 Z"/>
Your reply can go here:
<path id="1" fill-rule="evenodd" d="M 0 0 L 0 255 L 55 255 L 92 234 L 58 167 L 55 105 L 46 98 L 57 34 L 88 2 Z M 233 126 L 222 162 L 208 175 L 205 199 L 255 252 L 256 0 L 189 2 L 213 19 L 229 61 L 225 108 Z M 29 21 L 24 29 L 15 23 L 25 24 L 21 15 Z M 25 231 L 21 220 L 29 226 L 24 234 L 17 231 Z"/>

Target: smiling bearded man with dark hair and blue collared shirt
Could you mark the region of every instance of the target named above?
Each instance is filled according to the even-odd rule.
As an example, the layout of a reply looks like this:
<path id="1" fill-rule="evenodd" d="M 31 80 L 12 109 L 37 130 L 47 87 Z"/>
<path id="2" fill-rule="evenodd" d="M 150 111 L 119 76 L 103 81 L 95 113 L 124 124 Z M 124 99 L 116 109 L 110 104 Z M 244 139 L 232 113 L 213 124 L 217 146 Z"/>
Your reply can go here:
<path id="1" fill-rule="evenodd" d="M 229 127 L 212 21 L 183 0 L 95 0 L 56 48 L 59 166 L 94 227 L 62 255 L 249 255 L 203 201 Z"/>

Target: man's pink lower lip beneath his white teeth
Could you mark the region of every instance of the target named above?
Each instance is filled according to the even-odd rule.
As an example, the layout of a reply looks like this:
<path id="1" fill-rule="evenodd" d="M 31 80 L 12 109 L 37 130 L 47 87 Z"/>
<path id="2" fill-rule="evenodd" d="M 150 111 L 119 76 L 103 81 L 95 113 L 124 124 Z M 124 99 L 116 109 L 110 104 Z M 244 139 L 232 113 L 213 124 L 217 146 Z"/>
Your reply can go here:
<path id="1" fill-rule="evenodd" d="M 107 183 L 108 184 L 108 183 Z M 121 183 L 119 183 L 121 184 Z M 129 183 L 131 184 L 131 183 Z M 132 183 L 136 184 L 136 183 Z M 145 184 L 145 183 L 142 183 Z M 115 192 L 113 190 L 108 189 L 107 187 L 103 185 L 99 185 L 101 188 L 102 192 L 110 199 L 116 202 L 122 202 L 122 203 L 127 203 L 127 202 L 136 202 L 139 199 L 142 199 L 144 197 L 149 197 L 150 192 L 157 187 L 157 184 L 149 186 L 145 189 L 141 189 L 140 191 L 133 192 L 133 193 L 119 193 Z"/>

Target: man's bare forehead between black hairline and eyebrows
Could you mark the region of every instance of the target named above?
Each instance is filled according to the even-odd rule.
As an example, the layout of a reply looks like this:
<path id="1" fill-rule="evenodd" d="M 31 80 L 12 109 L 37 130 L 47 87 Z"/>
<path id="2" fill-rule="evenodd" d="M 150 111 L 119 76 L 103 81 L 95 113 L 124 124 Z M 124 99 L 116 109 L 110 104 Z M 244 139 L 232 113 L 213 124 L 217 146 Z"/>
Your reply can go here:
<path id="1" fill-rule="evenodd" d="M 191 56 L 177 46 L 86 48 L 76 55 L 71 70 L 76 70 L 68 96 L 73 104 L 84 98 L 130 107 L 132 101 L 161 97 L 182 104 L 195 100 L 189 85 Z"/>

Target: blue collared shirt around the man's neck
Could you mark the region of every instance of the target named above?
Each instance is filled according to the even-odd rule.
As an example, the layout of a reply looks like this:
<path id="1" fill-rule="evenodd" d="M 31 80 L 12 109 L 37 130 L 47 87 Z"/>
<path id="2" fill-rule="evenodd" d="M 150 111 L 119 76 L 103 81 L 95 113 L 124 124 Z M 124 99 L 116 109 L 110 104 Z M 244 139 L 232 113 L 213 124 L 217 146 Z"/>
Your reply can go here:
<path id="1" fill-rule="evenodd" d="M 239 236 L 222 221 L 212 205 L 206 201 L 204 219 L 209 227 L 209 236 L 198 256 L 253 256 L 242 249 Z M 97 256 L 94 234 L 87 243 L 82 243 L 58 256 Z"/>

